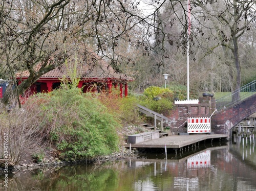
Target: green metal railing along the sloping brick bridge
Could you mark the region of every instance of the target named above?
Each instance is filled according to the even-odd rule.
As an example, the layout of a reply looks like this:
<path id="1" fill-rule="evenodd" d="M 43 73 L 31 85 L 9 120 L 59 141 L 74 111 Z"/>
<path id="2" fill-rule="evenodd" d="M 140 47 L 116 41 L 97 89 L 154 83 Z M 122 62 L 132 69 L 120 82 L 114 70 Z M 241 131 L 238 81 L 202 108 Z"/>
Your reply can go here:
<path id="1" fill-rule="evenodd" d="M 255 92 L 256 92 L 256 80 L 216 100 L 216 109 L 220 111 L 221 109 L 225 109 L 225 108 L 237 105 L 243 100 L 252 96 Z"/>

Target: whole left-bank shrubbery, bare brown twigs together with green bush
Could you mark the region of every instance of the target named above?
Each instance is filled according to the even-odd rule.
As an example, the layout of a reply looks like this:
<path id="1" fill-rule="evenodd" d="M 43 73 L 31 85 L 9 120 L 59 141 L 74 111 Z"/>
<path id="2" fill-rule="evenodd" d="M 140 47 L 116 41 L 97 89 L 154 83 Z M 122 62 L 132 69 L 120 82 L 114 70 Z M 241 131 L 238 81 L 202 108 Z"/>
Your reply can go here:
<path id="1" fill-rule="evenodd" d="M 0 113 L 1 133 L 11 135 L 13 164 L 47 151 L 57 157 L 82 159 L 118 150 L 119 117 L 90 93 L 57 89 L 30 97 L 23 108 L 7 112 L 2 107 Z"/>

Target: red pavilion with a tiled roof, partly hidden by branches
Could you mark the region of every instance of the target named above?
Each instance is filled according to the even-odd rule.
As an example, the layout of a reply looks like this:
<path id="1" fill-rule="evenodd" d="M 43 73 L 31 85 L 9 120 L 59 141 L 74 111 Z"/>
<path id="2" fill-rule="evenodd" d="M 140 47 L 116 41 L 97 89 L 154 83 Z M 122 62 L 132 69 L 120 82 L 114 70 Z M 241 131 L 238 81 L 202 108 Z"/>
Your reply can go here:
<path id="1" fill-rule="evenodd" d="M 87 59 L 84 59 L 83 63 L 71 66 L 70 63 L 64 64 L 61 67 L 49 71 L 42 75 L 34 84 L 29 88 L 30 93 L 37 92 L 50 92 L 60 86 L 61 80 L 66 78 L 70 80 L 69 74 L 76 70 L 76 76 L 79 78 L 78 87 L 82 88 L 83 92 L 88 91 L 109 91 L 112 88 L 119 88 L 120 97 L 127 96 L 128 94 L 128 82 L 134 81 L 132 77 L 126 76 L 122 73 L 117 73 L 108 63 L 101 60 L 95 53 L 90 54 Z M 35 70 L 38 71 L 40 64 L 35 66 Z M 73 71 L 72 71 L 73 70 Z M 26 80 L 30 73 L 25 70 L 16 74 L 18 84 Z"/>

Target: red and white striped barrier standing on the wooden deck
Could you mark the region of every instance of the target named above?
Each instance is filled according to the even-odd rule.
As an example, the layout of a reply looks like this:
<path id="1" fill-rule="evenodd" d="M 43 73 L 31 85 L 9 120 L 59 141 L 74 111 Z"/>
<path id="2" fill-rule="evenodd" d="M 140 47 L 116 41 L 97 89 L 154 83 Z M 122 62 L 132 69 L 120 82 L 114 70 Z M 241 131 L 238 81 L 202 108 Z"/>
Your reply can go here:
<path id="1" fill-rule="evenodd" d="M 187 117 L 187 133 L 210 133 L 210 117 Z"/>

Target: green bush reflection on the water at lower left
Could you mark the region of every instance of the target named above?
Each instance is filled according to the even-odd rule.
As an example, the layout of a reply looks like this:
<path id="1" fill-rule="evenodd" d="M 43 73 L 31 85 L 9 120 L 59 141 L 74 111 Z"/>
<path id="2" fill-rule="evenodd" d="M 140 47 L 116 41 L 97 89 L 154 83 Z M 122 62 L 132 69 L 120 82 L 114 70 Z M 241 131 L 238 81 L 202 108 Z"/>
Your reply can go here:
<path id="1" fill-rule="evenodd" d="M 20 172 L 9 178 L 9 190 L 117 190 L 119 172 L 94 170 L 92 166 L 65 166 L 55 169 Z M 110 189 L 111 188 L 111 189 Z"/>

